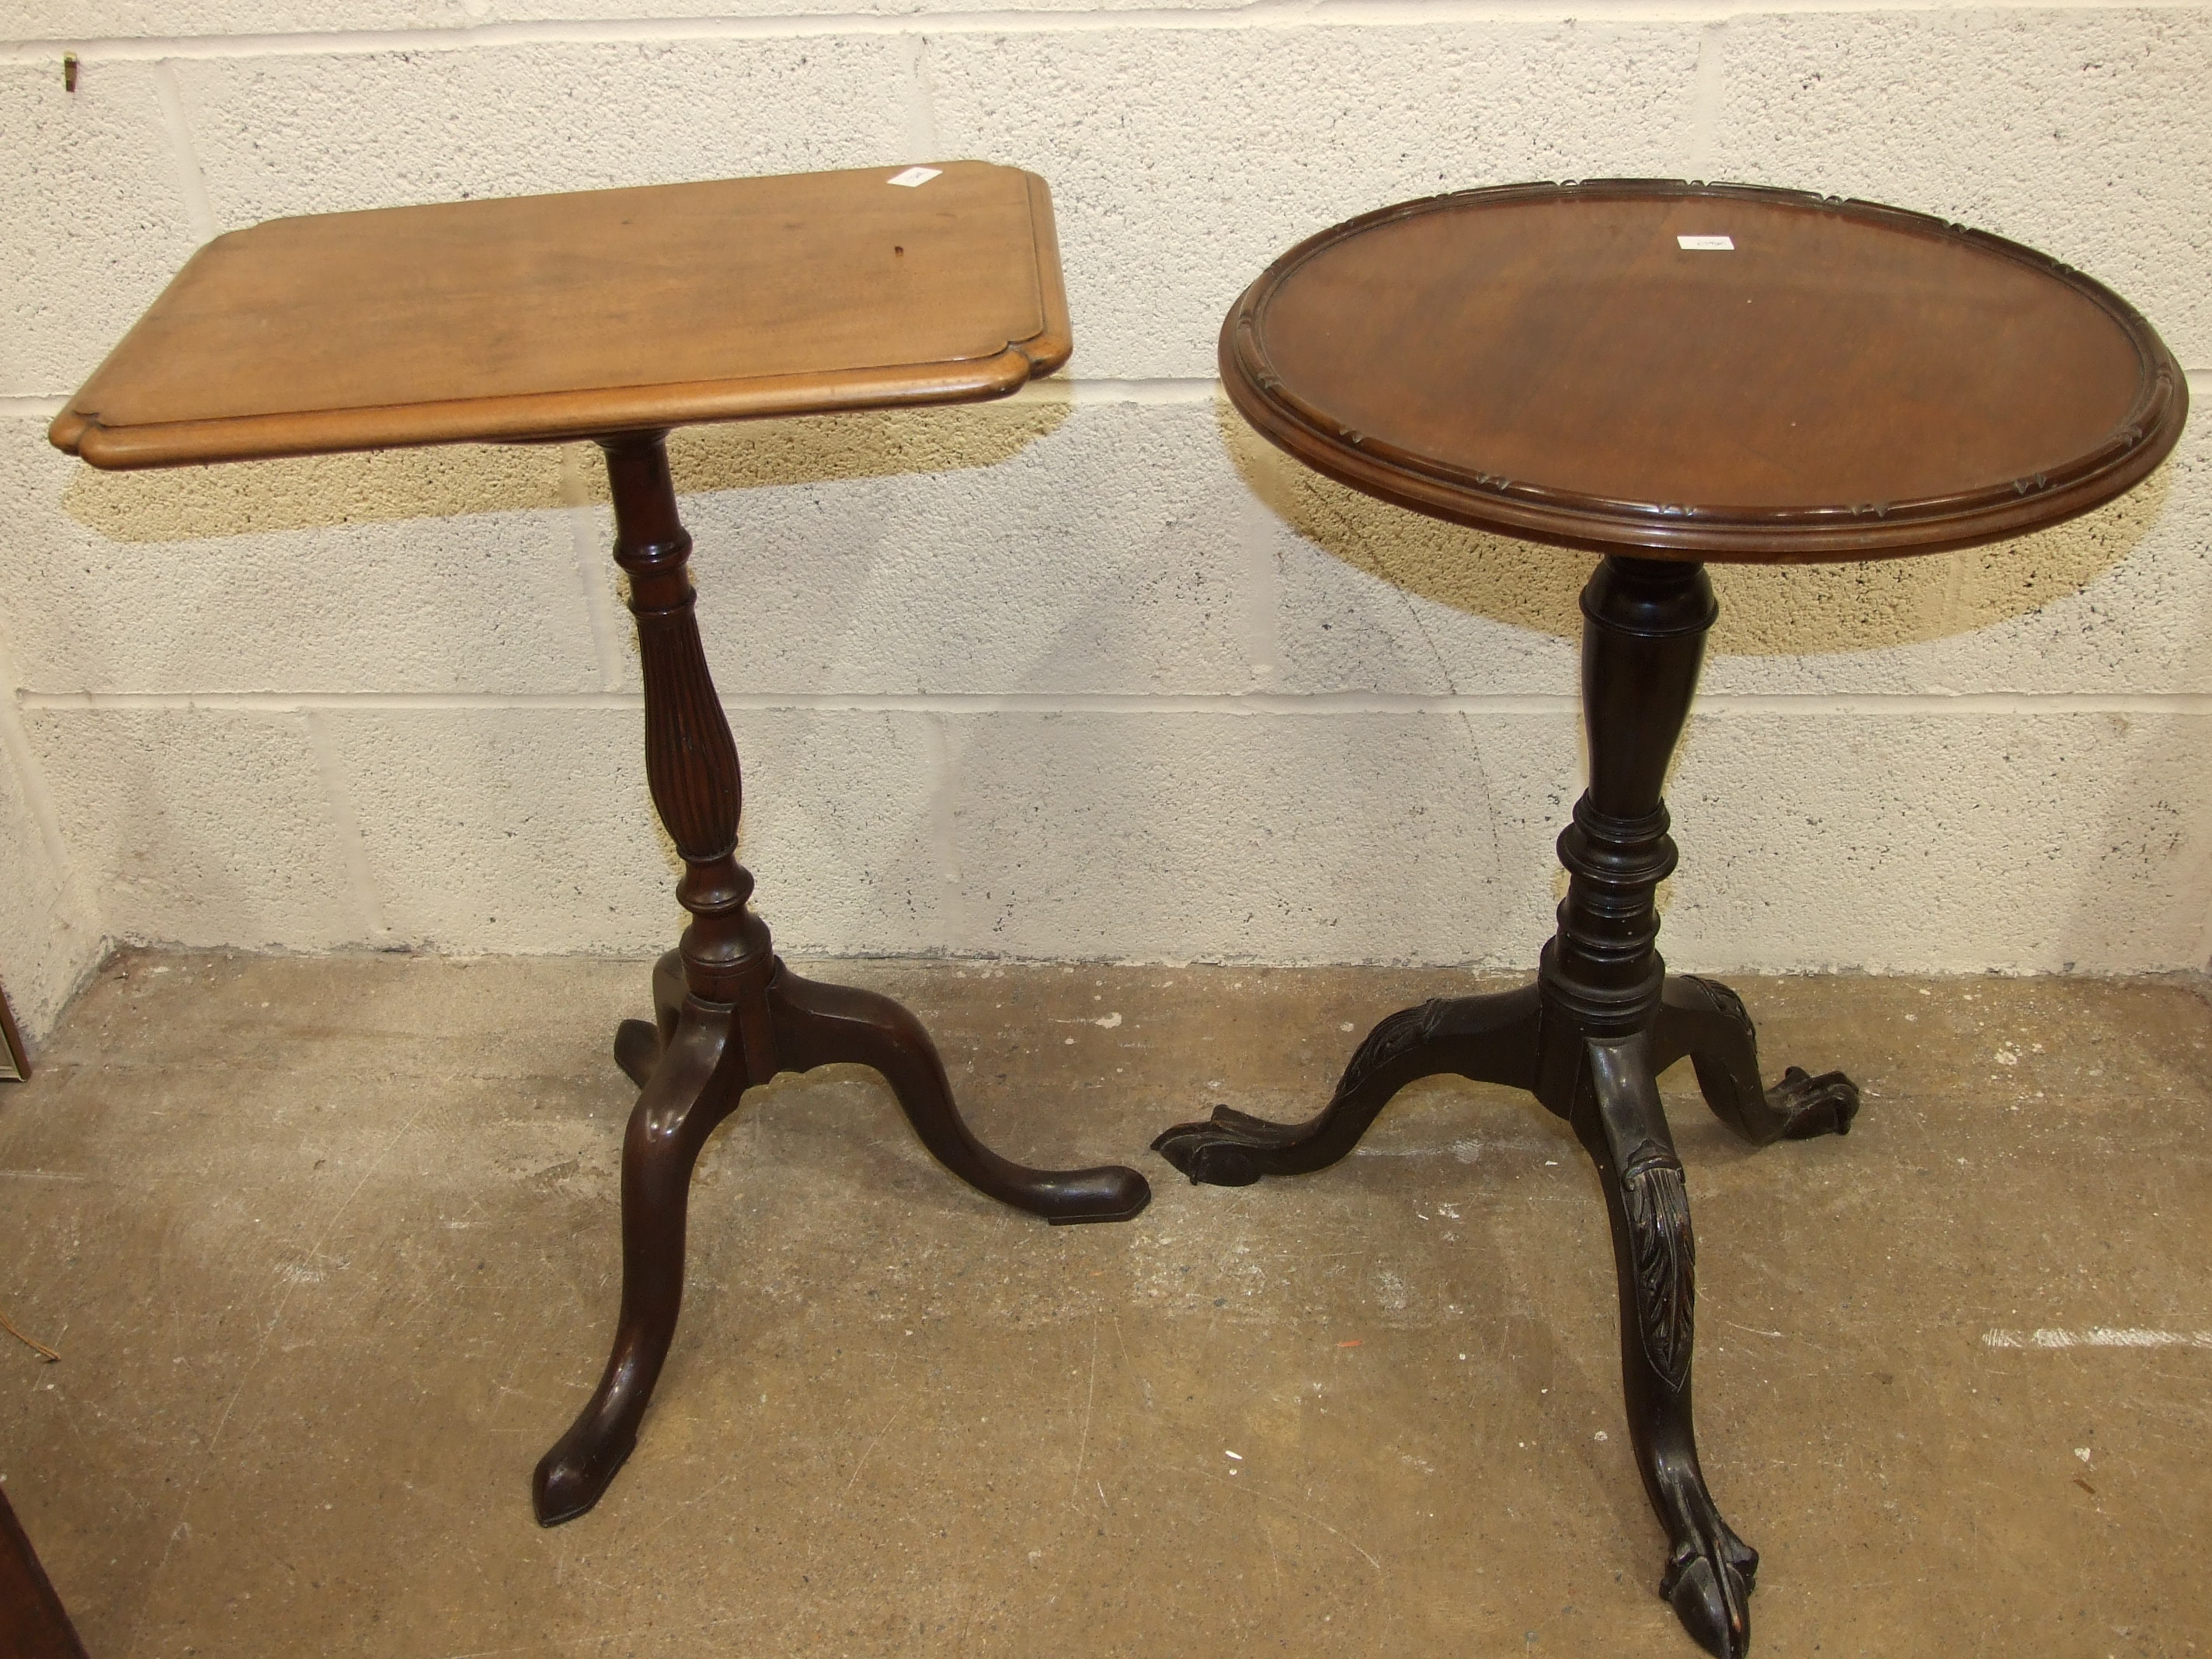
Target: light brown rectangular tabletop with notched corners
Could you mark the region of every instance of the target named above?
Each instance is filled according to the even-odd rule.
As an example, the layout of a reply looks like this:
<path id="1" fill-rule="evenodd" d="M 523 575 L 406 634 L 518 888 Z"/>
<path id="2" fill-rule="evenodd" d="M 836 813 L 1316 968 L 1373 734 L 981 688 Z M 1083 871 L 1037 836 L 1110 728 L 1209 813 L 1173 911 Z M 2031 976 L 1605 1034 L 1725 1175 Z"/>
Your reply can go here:
<path id="1" fill-rule="evenodd" d="M 573 438 L 993 398 L 1068 347 L 1018 168 L 447 201 L 217 237 L 49 436 L 95 467 Z"/>

